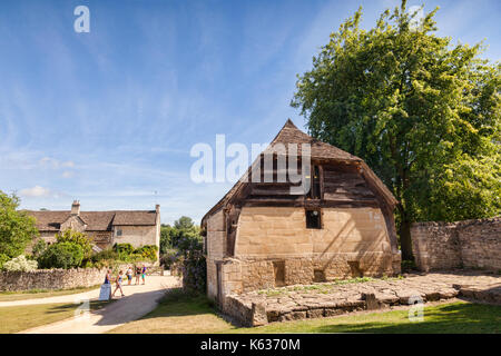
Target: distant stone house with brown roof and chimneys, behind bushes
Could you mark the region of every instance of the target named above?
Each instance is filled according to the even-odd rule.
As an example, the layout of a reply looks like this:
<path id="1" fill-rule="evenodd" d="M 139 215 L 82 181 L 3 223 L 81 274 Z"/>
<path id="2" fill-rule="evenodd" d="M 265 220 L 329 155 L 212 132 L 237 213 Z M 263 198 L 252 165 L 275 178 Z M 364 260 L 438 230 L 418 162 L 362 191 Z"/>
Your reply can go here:
<path id="1" fill-rule="evenodd" d="M 27 212 L 35 217 L 40 237 L 47 243 L 53 243 L 56 234 L 72 229 L 91 237 L 98 250 L 126 243 L 136 248 L 160 247 L 159 205 L 155 210 L 80 211 L 80 202 L 75 200 L 71 210 Z"/>

